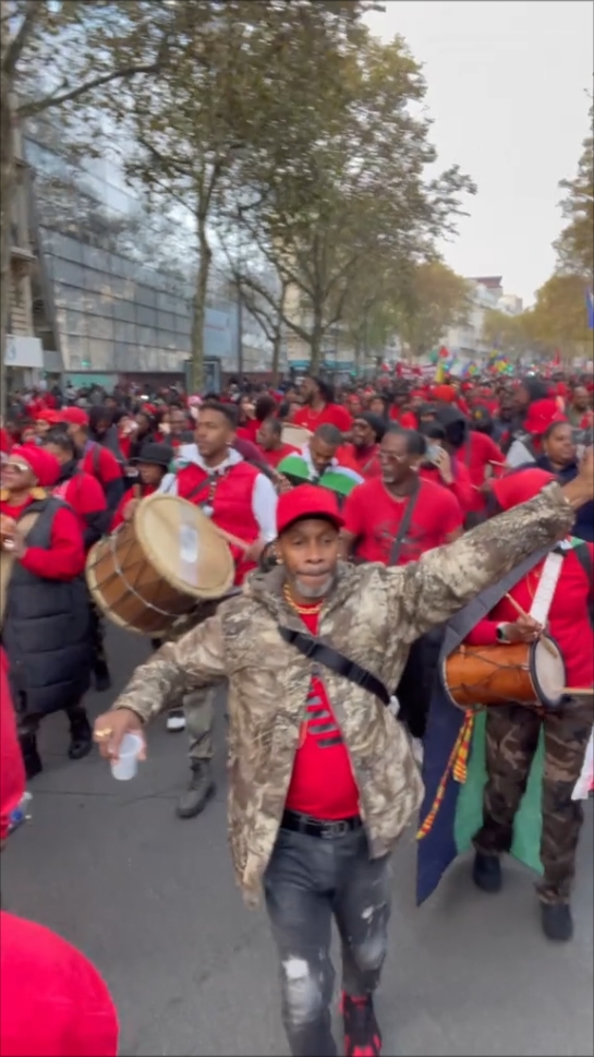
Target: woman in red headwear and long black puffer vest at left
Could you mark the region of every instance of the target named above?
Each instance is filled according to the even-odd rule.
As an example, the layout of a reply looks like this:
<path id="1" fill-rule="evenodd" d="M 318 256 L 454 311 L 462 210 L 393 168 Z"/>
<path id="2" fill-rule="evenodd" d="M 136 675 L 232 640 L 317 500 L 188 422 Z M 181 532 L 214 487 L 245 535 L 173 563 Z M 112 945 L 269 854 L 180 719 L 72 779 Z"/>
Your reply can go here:
<path id="1" fill-rule="evenodd" d="M 2 466 L 2 646 L 28 778 L 41 770 L 36 735 L 50 712 L 66 712 L 71 759 L 92 747 L 81 704 L 92 664 L 85 550 L 76 515 L 48 494 L 59 472 L 34 445 L 13 448 Z"/>

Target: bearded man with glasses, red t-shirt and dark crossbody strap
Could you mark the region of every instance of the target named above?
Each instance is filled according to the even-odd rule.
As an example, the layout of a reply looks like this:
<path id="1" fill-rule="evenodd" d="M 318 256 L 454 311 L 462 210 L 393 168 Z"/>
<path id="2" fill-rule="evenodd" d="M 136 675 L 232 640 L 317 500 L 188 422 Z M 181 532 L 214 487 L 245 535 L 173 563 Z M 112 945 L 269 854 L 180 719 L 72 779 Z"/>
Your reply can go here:
<path id="1" fill-rule="evenodd" d="M 344 557 L 354 553 L 365 562 L 407 565 L 462 534 L 462 511 L 456 496 L 420 477 L 425 454 L 426 442 L 420 433 L 398 427 L 387 430 L 379 448 L 381 477 L 355 488 L 344 504 Z M 404 517 L 410 524 L 397 545 Z"/>

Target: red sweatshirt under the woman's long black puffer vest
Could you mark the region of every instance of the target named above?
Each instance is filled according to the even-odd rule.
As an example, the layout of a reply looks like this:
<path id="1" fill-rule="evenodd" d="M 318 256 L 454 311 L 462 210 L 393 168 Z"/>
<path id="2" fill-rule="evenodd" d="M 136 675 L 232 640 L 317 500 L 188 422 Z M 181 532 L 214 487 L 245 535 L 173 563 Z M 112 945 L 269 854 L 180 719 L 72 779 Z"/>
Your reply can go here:
<path id="1" fill-rule="evenodd" d="M 33 502 L 29 499 L 22 506 L 0 503 L 0 514 L 17 520 Z M 54 514 L 49 549 L 46 551 L 43 546 L 28 546 L 20 558 L 21 565 L 29 573 L 45 580 L 73 580 L 84 572 L 85 560 L 78 519 L 68 506 L 61 507 Z"/>

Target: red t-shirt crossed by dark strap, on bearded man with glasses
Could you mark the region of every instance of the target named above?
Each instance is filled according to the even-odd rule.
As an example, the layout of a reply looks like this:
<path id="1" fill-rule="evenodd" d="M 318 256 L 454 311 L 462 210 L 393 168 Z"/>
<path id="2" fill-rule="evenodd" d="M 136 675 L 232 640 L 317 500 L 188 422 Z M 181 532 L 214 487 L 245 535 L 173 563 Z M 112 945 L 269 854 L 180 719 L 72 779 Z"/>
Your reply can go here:
<path id="1" fill-rule="evenodd" d="M 356 555 L 387 565 L 395 538 L 410 500 L 392 499 L 379 478 L 353 489 L 344 504 L 344 528 L 356 537 Z M 441 484 L 421 479 L 421 487 L 398 565 L 416 562 L 425 551 L 441 546 L 462 528 L 458 500 Z"/>

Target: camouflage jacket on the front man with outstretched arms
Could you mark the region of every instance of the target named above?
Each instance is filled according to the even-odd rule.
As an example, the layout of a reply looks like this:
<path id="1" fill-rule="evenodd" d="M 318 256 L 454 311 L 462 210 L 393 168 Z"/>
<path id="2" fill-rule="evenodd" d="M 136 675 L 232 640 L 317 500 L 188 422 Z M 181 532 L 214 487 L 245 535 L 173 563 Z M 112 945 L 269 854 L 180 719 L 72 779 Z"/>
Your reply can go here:
<path id="1" fill-rule="evenodd" d="M 415 638 L 533 551 L 561 539 L 573 518 L 554 483 L 419 562 L 397 568 L 341 564 L 319 636 L 392 688 Z M 283 579 L 282 566 L 254 573 L 241 596 L 138 668 L 114 705 L 146 721 L 172 693 L 229 682 L 229 830 L 248 902 L 257 902 L 277 837 L 313 672 L 278 632 L 280 622 L 303 630 L 283 600 Z M 329 670 L 320 674 L 350 753 L 372 855 L 385 855 L 423 793 L 408 736 L 369 692 Z"/>

